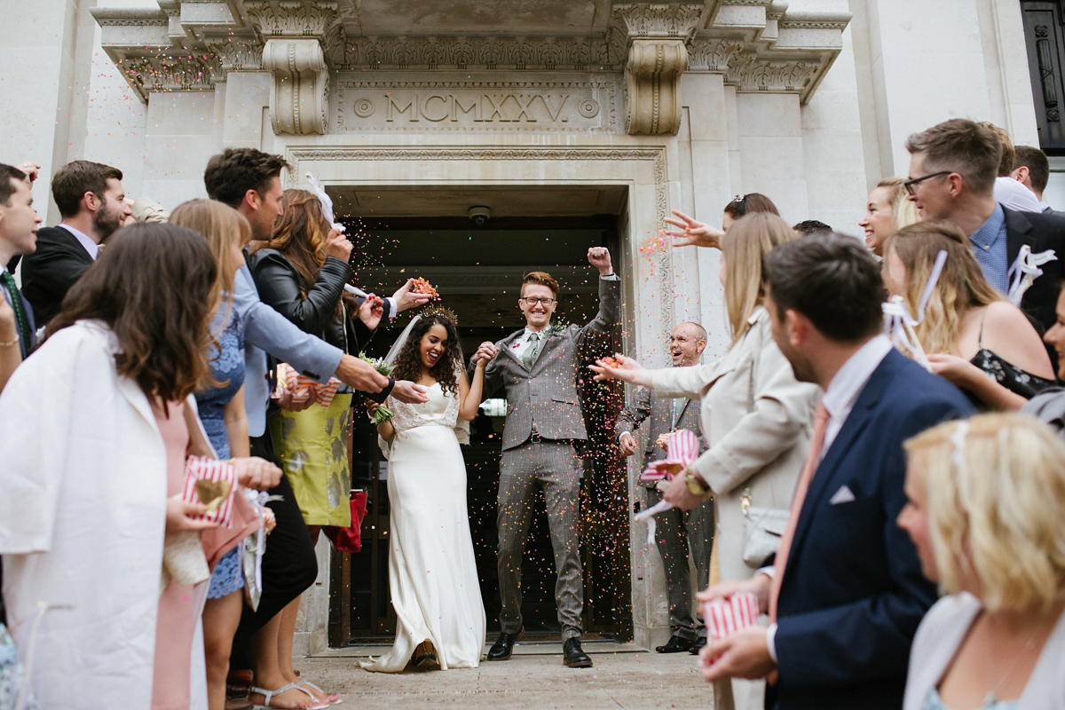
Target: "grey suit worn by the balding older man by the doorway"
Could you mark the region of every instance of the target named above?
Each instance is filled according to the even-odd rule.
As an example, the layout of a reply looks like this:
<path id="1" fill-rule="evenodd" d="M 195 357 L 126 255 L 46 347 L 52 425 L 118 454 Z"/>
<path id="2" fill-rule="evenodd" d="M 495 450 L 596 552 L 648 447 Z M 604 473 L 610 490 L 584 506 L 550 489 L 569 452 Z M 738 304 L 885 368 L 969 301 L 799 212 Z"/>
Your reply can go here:
<path id="1" fill-rule="evenodd" d="M 650 417 L 648 445 L 643 449 L 643 466 L 656 459 L 666 458 L 666 451 L 656 444 L 658 436 L 673 429 L 688 429 L 699 436 L 699 452 L 707 449 L 699 425 L 699 402 L 691 399 L 681 403 L 673 420 L 673 399 L 653 397 L 650 390 L 639 389 L 633 403 L 618 415 L 615 435 L 633 433 Z M 635 435 L 635 434 L 634 434 Z M 644 501 L 648 507 L 662 499 L 653 483 L 644 483 Z M 669 621 L 673 635 L 694 641 L 706 635 L 700 613 L 692 614 L 691 575 L 688 571 L 688 548 L 695 562 L 695 582 L 704 590 L 710 581 L 710 550 L 714 546 L 714 500 L 704 500 L 690 511 L 677 508 L 656 516 L 655 545 L 666 567 L 666 589 L 669 598 Z"/>

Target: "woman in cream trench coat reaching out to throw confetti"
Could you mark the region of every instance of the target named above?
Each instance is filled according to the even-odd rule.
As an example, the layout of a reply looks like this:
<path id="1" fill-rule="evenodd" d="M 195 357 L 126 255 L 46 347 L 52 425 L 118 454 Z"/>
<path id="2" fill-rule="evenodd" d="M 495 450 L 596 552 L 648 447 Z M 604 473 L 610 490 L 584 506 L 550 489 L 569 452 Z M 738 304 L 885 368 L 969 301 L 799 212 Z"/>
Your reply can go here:
<path id="1" fill-rule="evenodd" d="M 744 559 L 748 507 L 787 511 L 791 506 L 813 429 L 820 391 L 794 379 L 770 332 L 763 306 L 761 260 L 796 238 L 787 222 L 769 213 L 737 220 L 721 241 L 721 281 L 732 346 L 717 362 L 692 367 L 645 369 L 619 357 L 622 367 L 593 365 L 596 379 L 616 378 L 651 387 L 658 397 L 702 400 L 702 430 L 709 449 L 693 465 L 697 479 L 717 503 L 717 561 L 722 580 L 752 577 L 764 559 Z M 698 482 L 698 481 L 697 481 Z M 676 477 L 666 498 L 684 509 L 700 496 Z M 760 708 L 761 681 L 734 680 L 716 687 L 718 707 L 735 691 L 736 707 Z"/>

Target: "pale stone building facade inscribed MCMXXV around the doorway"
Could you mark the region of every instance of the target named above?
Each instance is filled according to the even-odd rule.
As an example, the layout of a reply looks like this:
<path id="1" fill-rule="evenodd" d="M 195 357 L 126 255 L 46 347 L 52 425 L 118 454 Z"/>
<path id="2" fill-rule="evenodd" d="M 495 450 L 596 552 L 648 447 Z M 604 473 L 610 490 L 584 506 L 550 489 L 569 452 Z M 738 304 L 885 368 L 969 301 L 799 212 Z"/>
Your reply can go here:
<path id="1" fill-rule="evenodd" d="M 733 195 L 759 192 L 789 222 L 858 233 L 869 188 L 906 174 L 914 131 L 967 116 L 1038 145 L 1017 0 L 9 0 L 5 11 L 0 160 L 48 175 L 81 158 L 113 164 L 130 195 L 168 209 L 203 196 L 208 158 L 241 146 L 285 155 L 292 186 L 313 172 L 331 189 L 620 195 L 608 202 L 625 345 L 651 363 L 665 362 L 662 334 L 682 319 L 706 324 L 711 354 L 728 342 L 716 253 L 640 252 L 671 210 L 716 224 Z M 55 224 L 47 182 L 34 195 Z M 1049 201 L 1059 194 L 1055 177 Z M 633 622 L 651 646 L 668 615 L 642 538 L 633 532 Z M 325 643 L 325 587 L 305 648 Z"/>

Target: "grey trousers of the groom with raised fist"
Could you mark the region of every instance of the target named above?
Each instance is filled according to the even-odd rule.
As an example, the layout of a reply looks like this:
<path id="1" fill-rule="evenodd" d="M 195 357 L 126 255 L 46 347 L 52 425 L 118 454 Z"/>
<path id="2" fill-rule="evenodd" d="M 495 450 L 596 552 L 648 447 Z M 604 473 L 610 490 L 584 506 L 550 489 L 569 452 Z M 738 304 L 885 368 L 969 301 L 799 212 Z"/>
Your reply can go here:
<path id="1" fill-rule="evenodd" d="M 577 540 L 580 459 L 570 441 L 532 439 L 507 449 L 499 461 L 499 625 L 504 633 L 522 627 L 522 556 L 536 486 L 543 489 L 555 551 L 555 602 L 562 641 L 580 638 L 584 588 Z"/>

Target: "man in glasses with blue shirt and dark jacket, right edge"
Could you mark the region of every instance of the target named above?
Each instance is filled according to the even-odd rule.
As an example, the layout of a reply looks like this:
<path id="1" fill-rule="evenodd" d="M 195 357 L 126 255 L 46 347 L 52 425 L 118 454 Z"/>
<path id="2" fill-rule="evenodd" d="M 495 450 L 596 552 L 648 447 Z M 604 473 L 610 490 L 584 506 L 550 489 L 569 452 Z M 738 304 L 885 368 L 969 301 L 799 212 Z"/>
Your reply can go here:
<path id="1" fill-rule="evenodd" d="M 1018 257 L 1052 250 L 1054 261 L 1025 292 L 1020 307 L 1043 330 L 1055 321 L 1055 285 L 1065 266 L 1065 217 L 1016 212 L 995 201 L 994 185 L 1002 144 L 994 131 L 976 121 L 953 118 L 915 133 L 906 141 L 910 179 L 904 183 L 922 219 L 953 221 L 969 236 L 984 277 L 1009 294 L 1021 276 Z"/>

